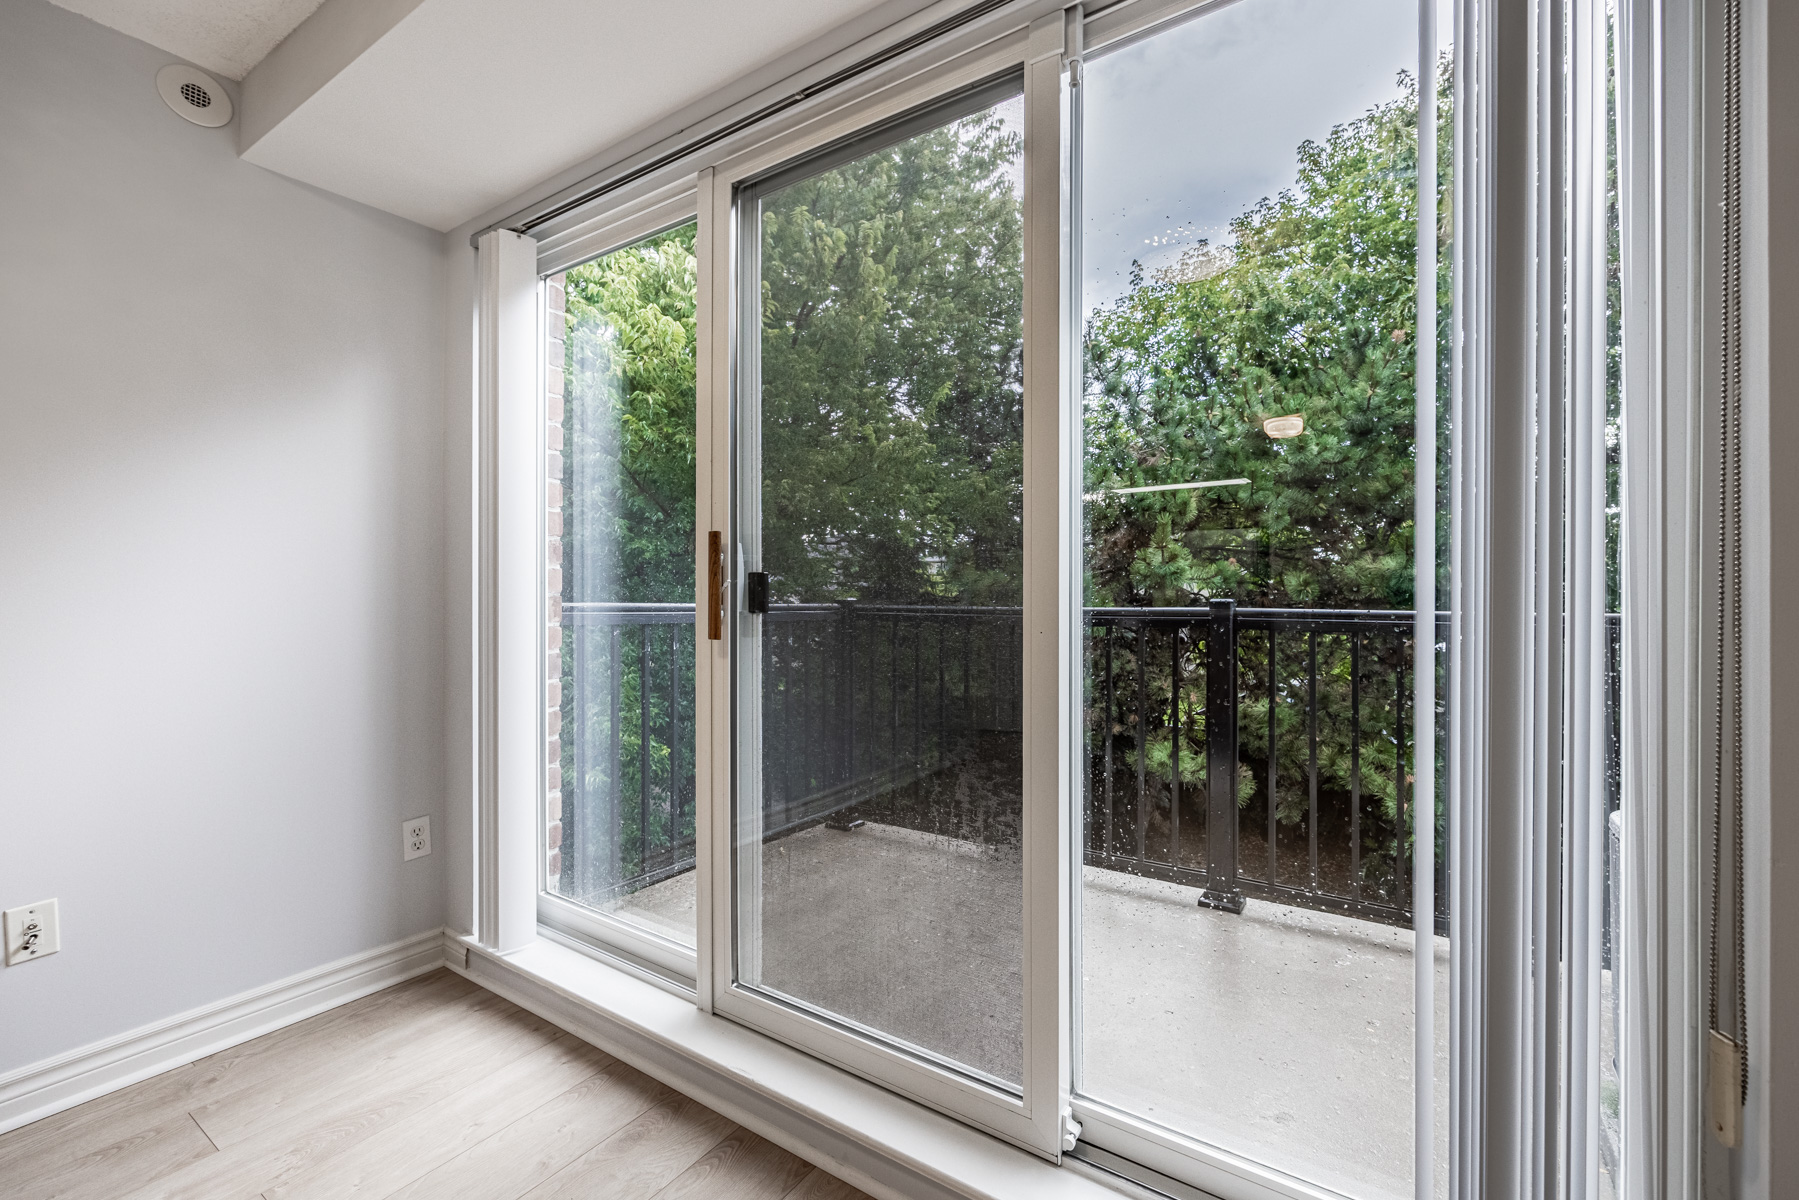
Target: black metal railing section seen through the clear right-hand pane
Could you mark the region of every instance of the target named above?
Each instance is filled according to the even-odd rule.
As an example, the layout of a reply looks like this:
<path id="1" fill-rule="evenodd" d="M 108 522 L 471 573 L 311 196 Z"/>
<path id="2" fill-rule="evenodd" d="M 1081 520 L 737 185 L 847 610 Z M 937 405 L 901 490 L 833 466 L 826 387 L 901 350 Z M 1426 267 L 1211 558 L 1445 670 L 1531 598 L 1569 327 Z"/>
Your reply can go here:
<path id="1" fill-rule="evenodd" d="M 1088 865 L 1187 883 L 1218 909 L 1410 923 L 1409 610 L 1213 601 L 1090 608 L 1087 624 Z M 1441 932 L 1445 811 L 1430 822 Z"/>

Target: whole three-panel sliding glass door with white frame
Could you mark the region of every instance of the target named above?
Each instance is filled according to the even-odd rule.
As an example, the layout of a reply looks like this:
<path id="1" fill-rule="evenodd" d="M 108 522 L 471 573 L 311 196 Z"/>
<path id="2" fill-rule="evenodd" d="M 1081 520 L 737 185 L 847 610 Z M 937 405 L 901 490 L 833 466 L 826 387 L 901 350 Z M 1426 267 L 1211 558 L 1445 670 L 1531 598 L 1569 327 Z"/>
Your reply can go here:
<path id="1" fill-rule="evenodd" d="M 1468 1137 L 1470 981 L 1513 955 L 1518 1157 L 1614 1195 L 1626 306 L 1608 23 L 1556 11 L 1589 142 L 1531 250 L 1563 320 L 1511 430 L 1518 560 L 1452 320 L 1495 324 L 1448 254 L 1473 117 L 1418 0 L 1045 14 L 558 232 L 543 923 L 1227 1200 L 1445 1195 L 1450 1045 Z M 1499 687 L 1517 786 L 1481 761 Z"/>

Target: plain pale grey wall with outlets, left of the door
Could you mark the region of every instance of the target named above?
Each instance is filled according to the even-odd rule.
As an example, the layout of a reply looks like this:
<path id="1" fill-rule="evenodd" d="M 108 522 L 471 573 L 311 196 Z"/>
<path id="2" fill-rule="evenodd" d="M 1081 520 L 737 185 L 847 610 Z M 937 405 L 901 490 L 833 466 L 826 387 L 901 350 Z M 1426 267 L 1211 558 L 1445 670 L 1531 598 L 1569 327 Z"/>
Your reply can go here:
<path id="1" fill-rule="evenodd" d="M 443 237 L 0 0 L 0 1074 L 443 923 Z"/>

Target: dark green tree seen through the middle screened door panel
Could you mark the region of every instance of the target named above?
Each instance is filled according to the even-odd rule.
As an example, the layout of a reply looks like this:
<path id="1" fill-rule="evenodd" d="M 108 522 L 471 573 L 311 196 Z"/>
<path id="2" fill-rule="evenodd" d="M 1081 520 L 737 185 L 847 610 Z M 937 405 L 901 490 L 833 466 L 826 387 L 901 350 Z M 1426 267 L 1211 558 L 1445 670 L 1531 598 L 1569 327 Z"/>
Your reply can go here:
<path id="1" fill-rule="evenodd" d="M 1020 149 L 988 110 L 763 200 L 777 601 L 1018 603 Z"/>

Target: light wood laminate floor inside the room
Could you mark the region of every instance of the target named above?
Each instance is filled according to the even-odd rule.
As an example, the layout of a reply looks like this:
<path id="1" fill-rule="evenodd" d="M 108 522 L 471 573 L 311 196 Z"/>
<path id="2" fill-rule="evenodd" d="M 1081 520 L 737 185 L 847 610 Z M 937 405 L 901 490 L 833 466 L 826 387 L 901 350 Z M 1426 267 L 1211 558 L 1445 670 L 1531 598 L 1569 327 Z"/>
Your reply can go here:
<path id="1" fill-rule="evenodd" d="M 865 1200 L 450 973 L 0 1135 L 4 1200 Z"/>

